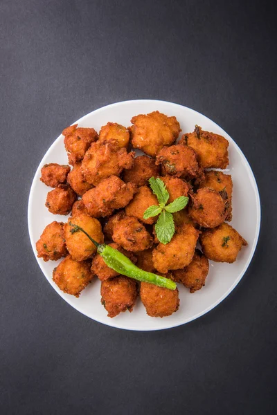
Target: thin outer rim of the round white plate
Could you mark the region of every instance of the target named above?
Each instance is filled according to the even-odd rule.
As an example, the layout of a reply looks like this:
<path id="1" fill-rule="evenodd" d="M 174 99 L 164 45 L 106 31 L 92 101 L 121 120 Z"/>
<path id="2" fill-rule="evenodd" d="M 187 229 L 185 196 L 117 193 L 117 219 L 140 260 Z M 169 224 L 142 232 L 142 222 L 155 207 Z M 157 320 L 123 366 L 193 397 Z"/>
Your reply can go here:
<path id="1" fill-rule="evenodd" d="M 105 111 L 106 109 L 110 109 L 112 107 L 117 107 L 120 104 L 128 104 L 129 102 L 137 102 L 140 103 L 141 102 L 163 102 L 164 104 L 170 104 L 170 105 L 175 105 L 177 107 L 181 107 L 181 108 L 185 108 L 188 111 L 192 111 L 193 113 L 197 113 L 199 114 L 199 116 L 202 116 L 204 118 L 206 118 L 206 120 L 213 122 L 217 127 L 219 127 L 220 129 L 222 129 L 224 131 L 224 133 L 226 134 L 226 137 L 228 138 L 228 140 L 231 140 L 231 142 L 233 143 L 233 145 L 235 146 L 236 151 L 238 151 L 238 153 L 240 154 L 240 156 L 242 156 L 242 158 L 244 159 L 247 168 L 249 169 L 249 174 L 250 174 L 250 178 L 252 181 L 252 185 L 253 185 L 253 190 L 255 193 L 255 199 L 256 199 L 256 207 L 257 207 L 257 220 L 256 220 L 256 232 L 255 232 L 255 237 L 253 239 L 253 246 L 252 246 L 252 250 L 249 254 L 249 258 L 246 262 L 246 264 L 244 265 L 240 275 L 238 275 L 238 277 L 235 279 L 235 282 L 233 282 L 233 284 L 229 287 L 229 289 L 219 298 L 217 299 L 215 302 L 213 302 L 213 304 L 210 304 L 208 307 L 206 307 L 204 310 L 200 311 L 197 315 L 193 315 L 193 317 L 189 317 L 188 320 L 186 320 L 185 322 L 177 322 L 177 323 L 171 323 L 171 324 L 167 324 L 166 326 L 157 326 L 157 327 L 150 327 L 150 328 L 145 328 L 145 329 L 141 329 L 141 328 L 129 328 L 129 327 L 124 327 L 121 324 L 116 324 L 116 320 L 112 319 L 112 324 L 109 324 L 109 322 L 106 321 L 102 321 L 101 318 L 95 318 L 95 317 L 91 317 L 90 315 L 88 315 L 87 313 L 85 313 L 84 311 L 80 311 L 78 308 L 76 308 L 75 304 L 71 303 L 70 299 L 65 299 L 64 297 L 62 297 L 62 295 L 60 295 L 59 293 L 59 288 L 55 286 L 55 284 L 51 284 L 51 282 L 49 282 L 48 278 L 46 277 L 46 275 L 44 275 L 44 271 L 42 270 L 42 266 L 41 263 L 39 261 L 39 258 L 37 258 L 37 252 L 35 249 L 35 242 L 32 241 L 32 237 L 31 237 L 31 230 L 30 230 L 30 222 L 31 222 L 31 214 L 32 214 L 32 201 L 33 201 L 33 197 L 34 197 L 34 190 L 35 190 L 35 183 L 37 181 L 37 176 L 39 176 L 40 174 L 40 169 L 43 167 L 44 163 L 43 160 L 44 158 L 48 155 L 48 153 L 51 152 L 52 147 L 54 147 L 55 142 L 60 138 L 60 136 L 62 136 L 62 134 L 60 134 L 60 136 L 57 136 L 57 138 L 55 138 L 55 140 L 53 141 L 53 143 L 51 144 L 51 146 L 48 148 L 48 150 L 46 151 L 46 153 L 44 154 L 44 156 L 42 157 L 42 160 L 40 161 L 36 171 L 35 171 L 35 175 L 33 177 L 33 181 L 32 181 L 32 185 L 30 187 L 30 193 L 28 196 L 28 213 L 27 213 L 27 217 L 28 217 L 28 234 L 29 234 L 29 238 L 30 238 L 30 243 L 31 246 L 33 248 L 33 253 L 35 255 L 35 259 L 37 260 L 37 264 L 39 265 L 40 270 L 42 271 L 42 274 L 44 275 L 44 277 L 46 278 L 47 282 L 51 284 L 51 286 L 55 289 L 56 293 L 59 295 L 59 297 L 61 297 L 67 304 L 69 304 L 70 306 L 72 306 L 73 308 L 75 308 L 76 311 L 78 311 L 79 313 L 82 313 L 82 315 L 85 315 L 86 317 L 88 317 L 89 319 L 101 323 L 101 324 L 105 324 L 105 326 L 109 326 L 109 327 L 114 327 L 115 329 L 123 329 L 123 330 L 128 330 L 128 331 L 160 331 L 160 330 L 167 330 L 167 329 L 173 329 L 175 327 L 178 326 L 183 326 L 184 324 L 188 324 L 190 322 L 193 322 L 193 320 L 197 320 L 197 318 L 202 317 L 202 315 L 205 315 L 206 313 L 208 313 L 209 311 L 213 310 L 213 308 L 215 308 L 216 306 L 218 306 L 218 304 L 220 304 L 226 297 L 229 296 L 229 294 L 234 290 L 234 288 L 239 284 L 239 282 L 241 281 L 242 277 L 244 276 L 244 274 L 247 272 L 247 269 L 249 268 L 249 265 L 251 264 L 251 261 L 253 259 L 253 255 L 256 251 L 257 248 L 257 244 L 258 244 L 258 239 L 260 236 L 260 223 L 261 223 L 261 205 L 260 205 L 260 193 L 258 190 L 258 185 L 257 185 L 257 181 L 255 178 L 255 175 L 253 174 L 253 170 L 251 169 L 251 165 L 249 164 L 249 161 L 247 160 L 247 157 L 244 156 L 244 153 L 242 152 L 242 150 L 240 149 L 240 147 L 238 146 L 238 144 L 235 142 L 235 140 L 233 140 L 233 138 L 231 138 L 231 136 L 229 136 L 228 133 L 226 133 L 226 131 L 220 127 L 220 125 L 217 124 L 217 122 L 211 120 L 211 118 L 208 118 L 207 116 L 205 116 L 202 113 L 199 113 L 199 111 L 196 111 L 195 109 L 191 109 L 189 107 L 186 107 L 185 105 L 182 104 L 177 104 L 175 102 L 170 102 L 170 101 L 164 101 L 164 100 L 151 100 L 151 99 L 140 99 L 140 100 L 126 100 L 126 101 L 119 101 L 119 102 L 114 102 L 112 104 L 107 104 L 104 107 L 100 107 L 98 109 L 95 109 L 87 114 L 85 114 L 84 116 L 82 116 L 81 118 L 79 118 L 78 120 L 76 120 L 75 122 L 73 122 L 71 125 L 73 124 L 79 124 L 80 122 L 82 122 L 83 120 L 85 120 L 86 118 L 88 118 L 89 116 L 91 116 L 92 113 L 98 113 L 100 111 Z"/>

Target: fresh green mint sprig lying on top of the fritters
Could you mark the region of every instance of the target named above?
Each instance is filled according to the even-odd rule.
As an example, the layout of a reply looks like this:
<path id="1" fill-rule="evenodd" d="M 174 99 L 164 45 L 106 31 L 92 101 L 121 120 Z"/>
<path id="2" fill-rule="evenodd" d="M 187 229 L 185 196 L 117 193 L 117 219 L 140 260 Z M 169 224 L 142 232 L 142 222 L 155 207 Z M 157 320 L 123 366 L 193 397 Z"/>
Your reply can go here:
<path id="1" fill-rule="evenodd" d="M 155 225 L 155 231 L 159 241 L 166 245 L 166 243 L 171 241 L 175 233 L 172 213 L 179 212 L 179 210 L 184 209 L 188 204 L 188 197 L 179 196 L 175 199 L 175 201 L 169 205 L 166 205 L 169 199 L 169 193 L 161 178 L 151 177 L 149 179 L 149 183 L 152 192 L 157 196 L 159 206 L 152 205 L 146 209 L 143 214 L 143 219 L 149 219 L 159 214 L 159 218 Z"/>

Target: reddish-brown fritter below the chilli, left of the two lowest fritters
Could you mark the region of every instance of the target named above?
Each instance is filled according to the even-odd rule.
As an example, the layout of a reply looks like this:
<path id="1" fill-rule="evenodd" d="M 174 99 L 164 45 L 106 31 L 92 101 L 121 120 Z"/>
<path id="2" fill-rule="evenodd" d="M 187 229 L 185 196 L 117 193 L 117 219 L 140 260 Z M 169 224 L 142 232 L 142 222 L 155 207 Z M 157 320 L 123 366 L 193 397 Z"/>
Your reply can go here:
<path id="1" fill-rule="evenodd" d="M 116 317 L 126 310 L 132 313 L 137 295 L 136 282 L 124 275 L 101 282 L 101 304 L 108 317 Z"/>

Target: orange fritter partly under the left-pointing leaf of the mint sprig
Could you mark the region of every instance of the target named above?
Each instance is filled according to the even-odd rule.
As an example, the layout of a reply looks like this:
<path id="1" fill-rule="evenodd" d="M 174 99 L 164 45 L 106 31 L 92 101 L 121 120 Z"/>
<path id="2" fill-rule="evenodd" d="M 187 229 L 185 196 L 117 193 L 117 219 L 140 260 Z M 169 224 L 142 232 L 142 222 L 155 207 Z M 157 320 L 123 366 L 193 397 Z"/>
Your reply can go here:
<path id="1" fill-rule="evenodd" d="M 143 223 L 152 225 L 158 219 L 158 216 L 153 216 L 149 219 L 143 219 L 143 214 L 146 209 L 152 205 L 159 206 L 157 197 L 152 193 L 152 190 L 148 186 L 141 186 L 138 192 L 134 195 L 134 199 L 129 202 L 129 205 L 125 208 L 127 216 L 134 216 Z"/>

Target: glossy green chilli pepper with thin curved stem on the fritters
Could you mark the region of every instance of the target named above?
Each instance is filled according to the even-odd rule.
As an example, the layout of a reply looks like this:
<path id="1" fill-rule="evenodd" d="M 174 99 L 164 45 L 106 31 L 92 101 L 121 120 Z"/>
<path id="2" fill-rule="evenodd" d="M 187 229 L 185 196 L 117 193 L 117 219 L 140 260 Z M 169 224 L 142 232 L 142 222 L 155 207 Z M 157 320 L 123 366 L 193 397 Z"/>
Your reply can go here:
<path id="1" fill-rule="evenodd" d="M 111 248 L 111 246 L 106 245 L 105 243 L 96 242 L 85 230 L 80 228 L 80 226 L 74 225 L 73 223 L 71 225 L 73 226 L 74 232 L 80 230 L 87 235 L 91 242 L 93 242 L 96 246 L 98 254 L 101 255 L 107 266 L 115 270 L 117 273 L 126 275 L 126 277 L 137 279 L 141 282 L 149 282 L 150 284 L 154 284 L 159 287 L 175 290 L 176 284 L 171 279 L 141 270 L 141 268 L 135 266 L 129 258 L 125 257 L 125 255 L 117 249 Z"/>

